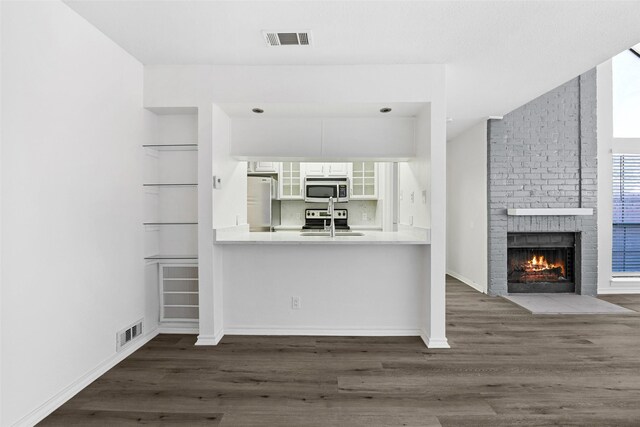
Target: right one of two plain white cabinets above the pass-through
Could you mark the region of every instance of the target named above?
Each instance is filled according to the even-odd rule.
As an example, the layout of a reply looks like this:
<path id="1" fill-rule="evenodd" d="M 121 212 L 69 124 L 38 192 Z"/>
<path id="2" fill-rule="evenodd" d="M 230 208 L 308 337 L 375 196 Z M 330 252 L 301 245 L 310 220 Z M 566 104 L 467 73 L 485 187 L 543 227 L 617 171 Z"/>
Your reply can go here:
<path id="1" fill-rule="evenodd" d="M 393 158 L 415 156 L 412 118 L 324 119 L 322 155 L 331 158 Z"/>

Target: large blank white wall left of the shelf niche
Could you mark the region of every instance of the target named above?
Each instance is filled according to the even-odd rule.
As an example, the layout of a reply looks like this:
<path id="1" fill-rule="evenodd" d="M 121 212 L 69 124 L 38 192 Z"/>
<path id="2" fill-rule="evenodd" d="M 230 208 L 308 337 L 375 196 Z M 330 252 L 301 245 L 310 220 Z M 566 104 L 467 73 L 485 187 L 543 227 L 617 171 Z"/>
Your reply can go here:
<path id="1" fill-rule="evenodd" d="M 145 316 L 145 128 L 138 61 L 61 2 L 2 8 L 0 424 L 12 425 L 62 403 Z"/>

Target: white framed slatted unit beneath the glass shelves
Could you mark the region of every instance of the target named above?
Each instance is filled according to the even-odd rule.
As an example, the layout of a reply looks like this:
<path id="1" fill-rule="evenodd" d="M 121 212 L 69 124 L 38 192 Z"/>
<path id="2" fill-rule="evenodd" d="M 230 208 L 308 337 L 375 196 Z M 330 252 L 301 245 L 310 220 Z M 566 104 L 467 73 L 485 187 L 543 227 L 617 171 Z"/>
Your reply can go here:
<path id="1" fill-rule="evenodd" d="M 198 265 L 160 263 L 160 322 L 197 322 Z"/>

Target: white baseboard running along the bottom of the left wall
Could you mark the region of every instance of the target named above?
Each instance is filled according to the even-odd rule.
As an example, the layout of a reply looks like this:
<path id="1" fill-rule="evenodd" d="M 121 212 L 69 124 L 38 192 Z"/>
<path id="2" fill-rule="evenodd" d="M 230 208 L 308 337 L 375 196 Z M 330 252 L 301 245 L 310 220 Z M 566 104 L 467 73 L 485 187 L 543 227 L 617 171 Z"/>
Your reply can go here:
<path id="1" fill-rule="evenodd" d="M 34 411 L 22 417 L 14 426 L 33 426 L 42 421 L 45 417 L 51 414 L 53 411 L 62 406 L 66 401 L 82 391 L 89 384 L 98 379 L 101 375 L 104 375 L 109 369 L 116 366 L 118 363 L 130 356 L 134 351 L 151 341 L 156 335 L 158 335 L 158 329 L 154 329 L 144 334 L 140 339 L 132 342 L 130 347 L 126 347 L 119 353 L 113 354 L 107 360 L 100 363 L 98 366 L 87 372 L 69 386 L 64 388 L 58 394 L 47 400 L 40 405 Z"/>

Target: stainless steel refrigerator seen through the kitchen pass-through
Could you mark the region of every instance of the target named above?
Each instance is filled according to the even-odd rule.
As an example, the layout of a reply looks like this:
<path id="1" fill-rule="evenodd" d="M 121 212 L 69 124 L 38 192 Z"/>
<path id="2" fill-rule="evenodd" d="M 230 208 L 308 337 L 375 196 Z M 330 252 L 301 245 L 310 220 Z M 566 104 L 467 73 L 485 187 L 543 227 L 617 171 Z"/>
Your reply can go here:
<path id="1" fill-rule="evenodd" d="M 273 231 L 273 227 L 280 225 L 277 180 L 247 177 L 247 222 L 249 231 Z"/>

